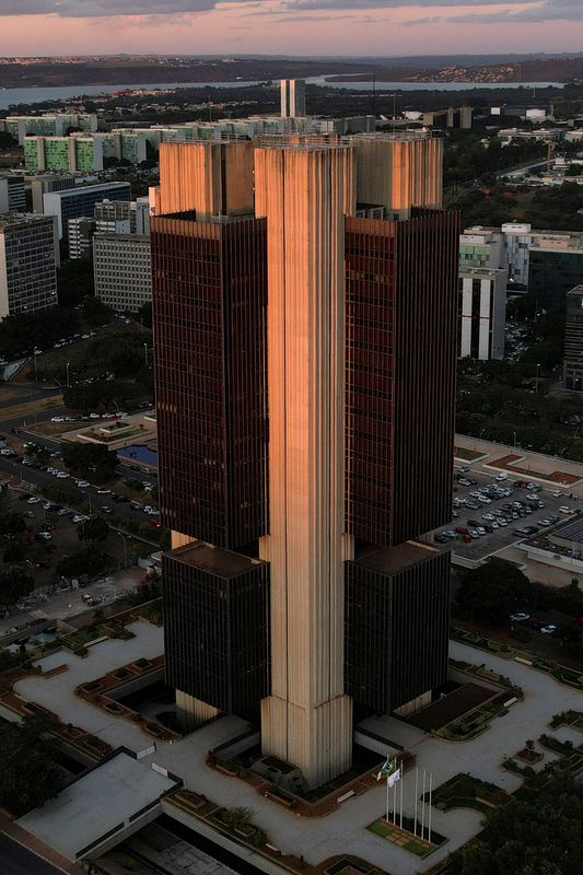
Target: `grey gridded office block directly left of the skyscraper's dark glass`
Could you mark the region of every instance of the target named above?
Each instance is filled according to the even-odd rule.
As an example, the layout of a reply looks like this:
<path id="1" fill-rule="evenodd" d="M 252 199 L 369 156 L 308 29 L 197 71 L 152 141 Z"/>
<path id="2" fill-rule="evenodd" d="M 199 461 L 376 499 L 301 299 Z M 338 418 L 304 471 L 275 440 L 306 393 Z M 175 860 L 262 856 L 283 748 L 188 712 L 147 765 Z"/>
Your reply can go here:
<path id="1" fill-rule="evenodd" d="M 137 313 L 152 300 L 149 237 L 95 233 L 93 272 L 96 298 L 112 310 Z"/>

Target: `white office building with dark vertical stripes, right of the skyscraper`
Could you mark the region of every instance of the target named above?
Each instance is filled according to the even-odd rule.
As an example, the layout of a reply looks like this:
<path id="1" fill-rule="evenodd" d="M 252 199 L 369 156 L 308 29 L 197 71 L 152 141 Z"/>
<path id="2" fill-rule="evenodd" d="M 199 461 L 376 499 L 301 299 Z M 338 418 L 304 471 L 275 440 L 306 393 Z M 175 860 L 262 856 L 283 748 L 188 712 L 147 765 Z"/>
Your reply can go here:
<path id="1" fill-rule="evenodd" d="M 459 270 L 459 358 L 503 359 L 506 334 L 506 271 Z"/>

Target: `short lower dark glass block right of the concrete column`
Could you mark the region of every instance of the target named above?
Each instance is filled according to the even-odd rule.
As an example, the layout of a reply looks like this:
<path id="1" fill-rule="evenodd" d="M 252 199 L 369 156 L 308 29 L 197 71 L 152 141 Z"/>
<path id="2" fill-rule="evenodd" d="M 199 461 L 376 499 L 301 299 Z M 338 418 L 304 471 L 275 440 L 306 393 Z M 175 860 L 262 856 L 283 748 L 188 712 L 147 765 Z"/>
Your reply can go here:
<path id="1" fill-rule="evenodd" d="M 345 689 L 380 713 L 447 678 L 450 557 L 412 544 L 346 563 Z"/>

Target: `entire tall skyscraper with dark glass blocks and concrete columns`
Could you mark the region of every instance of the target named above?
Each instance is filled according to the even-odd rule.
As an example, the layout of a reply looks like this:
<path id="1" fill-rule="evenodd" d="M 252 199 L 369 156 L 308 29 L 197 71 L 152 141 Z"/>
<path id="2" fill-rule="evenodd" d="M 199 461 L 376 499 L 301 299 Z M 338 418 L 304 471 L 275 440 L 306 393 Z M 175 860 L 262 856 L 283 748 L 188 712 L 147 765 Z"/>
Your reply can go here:
<path id="1" fill-rule="evenodd" d="M 161 149 L 167 680 L 194 721 L 260 714 L 264 752 L 311 786 L 349 768 L 354 702 L 415 710 L 446 678 L 448 563 L 424 537 L 450 518 L 454 442 L 440 148 Z"/>

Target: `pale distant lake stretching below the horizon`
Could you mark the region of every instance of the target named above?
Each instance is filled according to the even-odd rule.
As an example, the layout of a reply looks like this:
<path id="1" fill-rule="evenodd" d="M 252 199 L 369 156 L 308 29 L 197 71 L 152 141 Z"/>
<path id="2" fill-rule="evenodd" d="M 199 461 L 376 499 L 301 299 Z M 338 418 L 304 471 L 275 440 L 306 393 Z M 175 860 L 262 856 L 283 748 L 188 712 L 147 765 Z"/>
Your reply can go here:
<path id="1" fill-rule="evenodd" d="M 265 80 L 261 80 L 265 81 Z M 352 89 L 370 91 L 369 82 L 327 82 L 323 75 L 308 77 L 311 85 L 328 85 L 333 89 Z M 246 85 L 258 85 L 259 81 L 242 82 L 156 82 L 143 85 L 62 85 L 58 88 L 4 89 L 0 91 L 0 109 L 8 109 L 18 103 L 44 103 L 81 94 L 112 94 L 114 91 L 151 91 L 153 89 L 243 89 Z M 473 91 L 474 89 L 546 89 L 564 88 L 562 82 L 376 82 L 377 91 Z"/>

